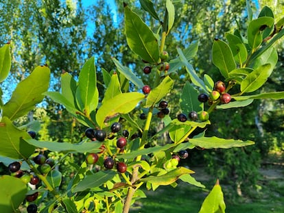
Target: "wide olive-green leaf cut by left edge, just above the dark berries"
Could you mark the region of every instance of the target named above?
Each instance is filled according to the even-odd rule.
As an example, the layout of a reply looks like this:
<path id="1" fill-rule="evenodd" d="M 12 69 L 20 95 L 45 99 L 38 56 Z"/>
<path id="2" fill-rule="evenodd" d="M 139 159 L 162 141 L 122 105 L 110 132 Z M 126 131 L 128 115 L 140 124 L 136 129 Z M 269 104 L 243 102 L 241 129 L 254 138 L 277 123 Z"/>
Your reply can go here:
<path id="1" fill-rule="evenodd" d="M 26 131 L 14 127 L 9 118 L 2 118 L 0 122 L 0 155 L 14 159 L 29 158 L 34 153 L 34 146 L 24 141 L 28 138 L 30 136 Z"/>

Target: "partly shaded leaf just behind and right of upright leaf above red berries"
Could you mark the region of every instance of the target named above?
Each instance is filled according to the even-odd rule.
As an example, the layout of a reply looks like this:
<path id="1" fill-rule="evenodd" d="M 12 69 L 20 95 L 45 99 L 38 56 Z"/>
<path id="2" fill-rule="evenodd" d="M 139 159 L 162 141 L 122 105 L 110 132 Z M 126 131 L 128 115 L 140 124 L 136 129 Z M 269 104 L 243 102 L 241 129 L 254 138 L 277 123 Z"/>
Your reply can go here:
<path id="1" fill-rule="evenodd" d="M 246 45 L 241 41 L 241 38 L 226 33 L 226 39 L 228 40 L 228 45 L 233 53 L 235 61 L 242 64 L 248 58 L 248 51 L 246 50 Z"/>

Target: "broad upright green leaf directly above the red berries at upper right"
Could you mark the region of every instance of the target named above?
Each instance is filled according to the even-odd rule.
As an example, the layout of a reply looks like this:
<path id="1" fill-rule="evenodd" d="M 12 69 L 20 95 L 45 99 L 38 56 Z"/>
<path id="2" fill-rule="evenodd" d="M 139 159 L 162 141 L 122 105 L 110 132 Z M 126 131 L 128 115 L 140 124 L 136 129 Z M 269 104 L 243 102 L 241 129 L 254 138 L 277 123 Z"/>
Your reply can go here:
<path id="1" fill-rule="evenodd" d="M 225 78 L 228 78 L 228 73 L 237 67 L 230 47 L 220 39 L 213 42 L 212 61 Z"/>

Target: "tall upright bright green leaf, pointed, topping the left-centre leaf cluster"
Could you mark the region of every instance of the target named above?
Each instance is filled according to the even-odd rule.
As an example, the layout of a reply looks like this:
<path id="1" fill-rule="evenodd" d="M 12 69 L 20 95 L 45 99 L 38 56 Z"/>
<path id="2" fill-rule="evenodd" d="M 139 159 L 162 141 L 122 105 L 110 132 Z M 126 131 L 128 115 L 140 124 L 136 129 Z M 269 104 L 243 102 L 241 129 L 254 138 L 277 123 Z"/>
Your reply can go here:
<path id="1" fill-rule="evenodd" d="M 94 99 L 97 88 L 97 75 L 95 73 L 95 58 L 86 61 L 79 74 L 78 88 L 84 109 L 89 112 L 90 104 Z"/>

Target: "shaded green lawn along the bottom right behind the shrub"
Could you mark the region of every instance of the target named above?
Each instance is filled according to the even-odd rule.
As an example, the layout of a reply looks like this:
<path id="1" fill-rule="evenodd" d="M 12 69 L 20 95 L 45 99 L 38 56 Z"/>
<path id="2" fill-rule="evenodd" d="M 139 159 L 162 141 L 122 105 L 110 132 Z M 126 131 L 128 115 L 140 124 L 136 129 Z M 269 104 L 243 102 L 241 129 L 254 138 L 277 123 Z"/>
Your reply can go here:
<path id="1" fill-rule="evenodd" d="M 283 170 L 282 170 L 283 174 Z M 226 201 L 224 197 L 226 212 L 239 213 L 283 213 L 284 212 L 284 175 L 280 179 L 265 179 L 260 182 L 261 189 L 257 199 L 246 199 L 235 196 L 234 201 Z M 202 202 L 209 190 L 213 187 L 212 181 L 202 181 L 207 189 L 197 188 L 180 182 L 176 188 L 171 186 L 160 186 L 156 191 L 147 191 L 147 198 L 138 201 L 132 208 L 131 213 L 176 213 L 189 212 L 198 213 Z M 222 186 L 222 183 L 221 183 Z M 229 197 L 230 195 L 228 195 Z"/>

